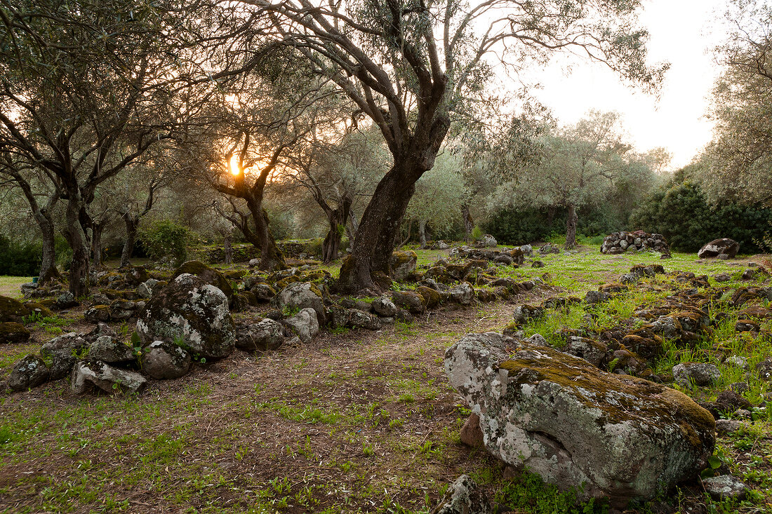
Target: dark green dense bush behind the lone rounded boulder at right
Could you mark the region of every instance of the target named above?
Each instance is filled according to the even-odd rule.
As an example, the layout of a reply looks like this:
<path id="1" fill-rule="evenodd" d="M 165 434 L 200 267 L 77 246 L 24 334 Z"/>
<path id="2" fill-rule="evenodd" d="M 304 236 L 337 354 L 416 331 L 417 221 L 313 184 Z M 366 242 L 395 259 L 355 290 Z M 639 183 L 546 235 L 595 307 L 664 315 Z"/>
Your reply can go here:
<path id="1" fill-rule="evenodd" d="M 706 242 L 732 238 L 740 252 L 760 252 L 756 241 L 772 221 L 772 210 L 759 205 L 712 205 L 698 184 L 677 175 L 636 210 L 631 228 L 665 235 L 672 249 L 696 252 Z"/>

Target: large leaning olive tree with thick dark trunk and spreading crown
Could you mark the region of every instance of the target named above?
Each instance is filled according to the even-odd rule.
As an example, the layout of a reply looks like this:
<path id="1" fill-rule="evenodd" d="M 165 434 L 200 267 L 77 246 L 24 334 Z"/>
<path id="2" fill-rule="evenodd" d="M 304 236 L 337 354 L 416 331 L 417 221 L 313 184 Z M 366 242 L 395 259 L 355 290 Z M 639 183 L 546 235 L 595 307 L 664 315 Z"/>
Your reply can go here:
<path id="1" fill-rule="evenodd" d="M 391 151 L 391 170 L 362 216 L 338 287 L 388 282 L 394 238 L 415 183 L 432 169 L 452 120 L 474 117 L 500 51 L 520 71 L 556 51 L 576 50 L 635 83 L 652 86 L 663 68 L 645 65 L 647 34 L 635 27 L 636 0 L 250 0 L 264 35 L 292 47 L 313 73 L 334 83 L 370 117 Z M 483 23 L 487 25 L 483 26 Z"/>

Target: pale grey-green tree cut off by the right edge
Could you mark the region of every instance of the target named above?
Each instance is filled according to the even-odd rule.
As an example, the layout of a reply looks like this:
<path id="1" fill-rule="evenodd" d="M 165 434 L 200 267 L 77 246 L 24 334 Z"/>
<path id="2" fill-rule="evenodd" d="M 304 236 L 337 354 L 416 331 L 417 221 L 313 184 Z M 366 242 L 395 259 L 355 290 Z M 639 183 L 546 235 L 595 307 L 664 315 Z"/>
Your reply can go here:
<path id="1" fill-rule="evenodd" d="M 729 40 L 716 49 L 726 71 L 713 89 L 716 128 L 699 180 L 709 196 L 772 205 L 772 5 L 733 0 Z"/>

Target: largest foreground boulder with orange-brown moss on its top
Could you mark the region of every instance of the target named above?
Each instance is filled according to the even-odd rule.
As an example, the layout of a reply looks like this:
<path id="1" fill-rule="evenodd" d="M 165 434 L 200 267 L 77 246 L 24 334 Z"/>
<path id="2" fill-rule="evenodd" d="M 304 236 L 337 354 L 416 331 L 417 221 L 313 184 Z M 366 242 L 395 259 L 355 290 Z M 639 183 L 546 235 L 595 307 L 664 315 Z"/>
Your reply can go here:
<path id="1" fill-rule="evenodd" d="M 488 451 L 582 499 L 652 498 L 713 454 L 713 416 L 685 394 L 497 333 L 445 352 L 450 383 L 479 415 Z"/>

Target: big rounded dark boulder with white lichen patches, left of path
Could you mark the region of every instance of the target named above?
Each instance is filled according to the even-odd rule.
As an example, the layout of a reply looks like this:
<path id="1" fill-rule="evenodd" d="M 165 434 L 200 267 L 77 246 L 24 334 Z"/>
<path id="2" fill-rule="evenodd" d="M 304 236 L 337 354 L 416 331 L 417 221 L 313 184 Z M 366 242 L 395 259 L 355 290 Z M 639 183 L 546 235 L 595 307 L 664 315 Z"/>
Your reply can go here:
<path id="1" fill-rule="evenodd" d="M 235 327 L 228 298 L 197 276 L 184 274 L 168 283 L 137 320 L 144 345 L 181 343 L 207 359 L 227 357 L 235 347 Z"/>

